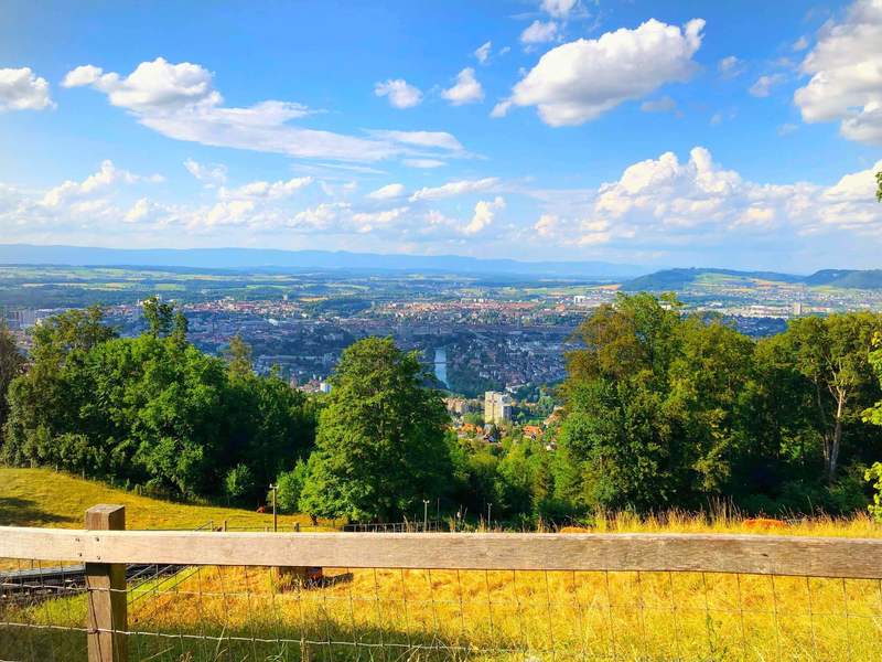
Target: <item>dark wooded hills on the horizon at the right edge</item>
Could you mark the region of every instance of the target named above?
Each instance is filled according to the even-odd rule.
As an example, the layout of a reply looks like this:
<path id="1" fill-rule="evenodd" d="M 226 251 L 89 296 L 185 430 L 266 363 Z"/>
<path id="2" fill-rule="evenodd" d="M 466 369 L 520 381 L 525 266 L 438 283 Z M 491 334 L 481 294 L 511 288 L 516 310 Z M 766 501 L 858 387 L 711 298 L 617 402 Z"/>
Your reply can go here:
<path id="1" fill-rule="evenodd" d="M 795 276 L 776 271 L 738 271 L 734 269 L 664 269 L 627 280 L 625 291 L 674 291 L 681 290 L 697 280 L 725 278 L 743 280 L 745 285 L 757 280 L 775 282 L 800 282 L 806 286 L 828 286 L 853 289 L 882 289 L 882 269 L 821 269 L 810 276 Z"/>

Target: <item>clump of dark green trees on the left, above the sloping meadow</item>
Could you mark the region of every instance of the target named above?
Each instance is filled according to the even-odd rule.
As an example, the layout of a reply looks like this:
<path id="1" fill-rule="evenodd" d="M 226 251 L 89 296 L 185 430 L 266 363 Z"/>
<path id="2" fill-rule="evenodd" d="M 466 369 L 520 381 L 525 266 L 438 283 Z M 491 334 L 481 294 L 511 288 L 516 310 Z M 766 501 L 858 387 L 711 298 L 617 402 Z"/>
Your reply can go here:
<path id="1" fill-rule="evenodd" d="M 181 323 L 178 330 L 183 331 Z M 248 468 L 260 498 L 305 457 L 315 414 L 276 376 L 234 378 L 183 332 L 118 339 L 100 316 L 65 313 L 35 332 L 13 380 L 2 459 L 129 480 L 179 495 L 220 495 Z"/>

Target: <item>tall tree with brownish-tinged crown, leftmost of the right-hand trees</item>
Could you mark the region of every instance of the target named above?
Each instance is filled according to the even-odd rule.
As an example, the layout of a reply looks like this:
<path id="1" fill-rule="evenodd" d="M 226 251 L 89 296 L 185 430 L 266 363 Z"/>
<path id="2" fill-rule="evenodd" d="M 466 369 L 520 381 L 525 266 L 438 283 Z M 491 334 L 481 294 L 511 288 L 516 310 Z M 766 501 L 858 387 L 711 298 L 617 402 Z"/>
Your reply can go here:
<path id="1" fill-rule="evenodd" d="M 573 469 L 559 490 L 574 505 L 646 510 L 682 495 L 676 471 L 681 412 L 666 406 L 681 345 L 676 308 L 650 295 L 620 295 L 579 328 L 584 349 L 567 356 L 560 433 Z"/>

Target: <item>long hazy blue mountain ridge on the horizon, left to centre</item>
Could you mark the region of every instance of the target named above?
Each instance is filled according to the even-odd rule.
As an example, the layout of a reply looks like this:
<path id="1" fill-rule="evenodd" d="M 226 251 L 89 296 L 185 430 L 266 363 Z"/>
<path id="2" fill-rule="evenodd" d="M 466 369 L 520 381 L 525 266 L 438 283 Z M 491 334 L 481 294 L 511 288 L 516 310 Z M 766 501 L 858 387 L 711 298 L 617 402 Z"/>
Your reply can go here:
<path id="1" fill-rule="evenodd" d="M 521 277 L 578 278 L 614 282 L 646 274 L 634 265 L 604 261 L 519 261 L 460 255 L 378 255 L 265 248 L 87 248 L 0 244 L 3 265 L 189 267 L 235 270 L 419 271 Z"/>

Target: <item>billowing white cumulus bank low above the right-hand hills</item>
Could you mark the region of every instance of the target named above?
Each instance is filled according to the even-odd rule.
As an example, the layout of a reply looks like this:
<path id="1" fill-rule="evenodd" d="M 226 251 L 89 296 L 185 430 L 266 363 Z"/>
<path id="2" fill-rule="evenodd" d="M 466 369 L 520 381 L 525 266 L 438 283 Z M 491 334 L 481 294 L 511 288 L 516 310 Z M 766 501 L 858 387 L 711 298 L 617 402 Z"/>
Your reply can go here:
<path id="1" fill-rule="evenodd" d="M 882 205 L 872 195 L 880 169 L 882 161 L 832 186 L 754 183 L 696 147 L 685 162 L 666 152 L 630 166 L 617 181 L 581 192 L 568 209 L 548 209 L 534 231 L 564 244 L 632 249 L 719 248 L 777 234 L 779 250 L 782 243 L 827 231 L 870 236 L 882 229 Z"/>

